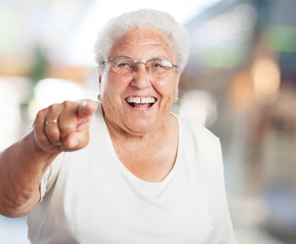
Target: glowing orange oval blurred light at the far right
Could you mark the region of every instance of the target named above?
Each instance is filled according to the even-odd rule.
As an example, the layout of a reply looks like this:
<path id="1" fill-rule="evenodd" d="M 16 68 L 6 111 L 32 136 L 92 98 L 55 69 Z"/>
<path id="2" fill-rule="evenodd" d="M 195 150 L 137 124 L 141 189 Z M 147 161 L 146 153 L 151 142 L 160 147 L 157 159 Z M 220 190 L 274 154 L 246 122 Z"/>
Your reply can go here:
<path id="1" fill-rule="evenodd" d="M 281 73 L 278 64 L 269 59 L 255 61 L 251 69 L 255 95 L 259 100 L 273 99 L 280 87 Z"/>

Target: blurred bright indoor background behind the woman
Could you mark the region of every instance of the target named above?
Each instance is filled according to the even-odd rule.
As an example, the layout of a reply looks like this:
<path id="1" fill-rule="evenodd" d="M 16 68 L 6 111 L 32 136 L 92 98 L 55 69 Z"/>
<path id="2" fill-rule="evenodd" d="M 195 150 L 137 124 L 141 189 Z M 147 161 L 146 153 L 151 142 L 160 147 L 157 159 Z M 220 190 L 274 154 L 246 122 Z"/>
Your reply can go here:
<path id="1" fill-rule="evenodd" d="M 296 244 L 296 0 L 0 0 L 0 151 L 51 103 L 96 100 L 96 33 L 140 8 L 190 34 L 173 112 L 220 137 L 239 244 Z M 26 219 L 0 216 L 0 243 Z"/>

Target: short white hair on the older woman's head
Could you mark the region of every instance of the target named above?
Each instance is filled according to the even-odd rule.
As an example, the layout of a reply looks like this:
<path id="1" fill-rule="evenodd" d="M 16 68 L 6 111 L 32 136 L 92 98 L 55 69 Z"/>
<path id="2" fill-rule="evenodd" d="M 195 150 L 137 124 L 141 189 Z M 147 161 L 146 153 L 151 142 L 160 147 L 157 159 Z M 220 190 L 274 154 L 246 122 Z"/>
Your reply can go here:
<path id="1" fill-rule="evenodd" d="M 121 14 L 109 20 L 103 30 L 98 33 L 94 52 L 100 73 L 103 73 L 103 64 L 108 60 L 114 44 L 130 30 L 141 27 L 156 28 L 169 38 L 177 58 L 176 64 L 180 67 L 180 71 L 183 72 L 189 53 L 187 30 L 168 13 L 153 9 L 141 9 Z"/>

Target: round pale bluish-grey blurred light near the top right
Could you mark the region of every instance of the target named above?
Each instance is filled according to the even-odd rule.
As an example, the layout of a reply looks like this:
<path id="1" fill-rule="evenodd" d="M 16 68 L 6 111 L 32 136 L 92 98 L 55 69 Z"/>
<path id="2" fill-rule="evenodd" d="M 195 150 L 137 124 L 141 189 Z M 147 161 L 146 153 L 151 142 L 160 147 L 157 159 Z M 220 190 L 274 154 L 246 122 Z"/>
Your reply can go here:
<path id="1" fill-rule="evenodd" d="M 237 22 L 235 26 L 238 30 L 251 30 L 258 19 L 257 10 L 247 3 L 236 6 L 232 13 L 236 16 Z"/>

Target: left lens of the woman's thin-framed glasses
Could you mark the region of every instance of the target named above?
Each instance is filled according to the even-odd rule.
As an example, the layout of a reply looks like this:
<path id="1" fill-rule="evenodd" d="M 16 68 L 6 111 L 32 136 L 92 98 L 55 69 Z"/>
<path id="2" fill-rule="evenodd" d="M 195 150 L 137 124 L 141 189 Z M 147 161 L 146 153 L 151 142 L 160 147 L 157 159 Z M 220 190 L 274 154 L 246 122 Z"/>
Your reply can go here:
<path id="1" fill-rule="evenodd" d="M 129 74 L 137 66 L 137 61 L 128 57 L 116 57 L 111 60 L 111 69 L 118 74 Z"/>

